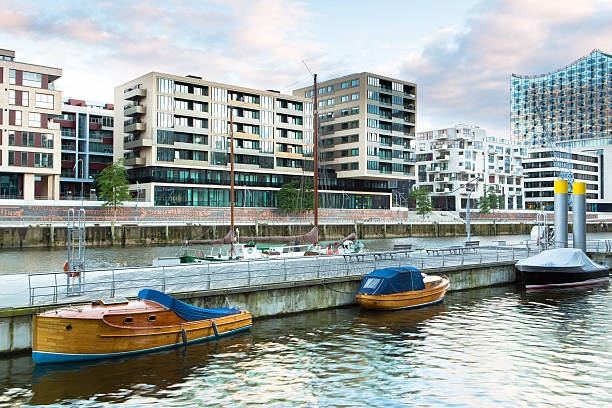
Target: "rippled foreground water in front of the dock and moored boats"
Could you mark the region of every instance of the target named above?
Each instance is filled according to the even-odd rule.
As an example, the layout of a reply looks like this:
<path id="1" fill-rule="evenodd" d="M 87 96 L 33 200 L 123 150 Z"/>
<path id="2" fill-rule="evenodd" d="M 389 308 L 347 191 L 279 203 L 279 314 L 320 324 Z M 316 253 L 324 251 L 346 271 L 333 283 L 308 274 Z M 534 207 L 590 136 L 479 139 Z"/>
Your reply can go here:
<path id="1" fill-rule="evenodd" d="M 449 293 L 445 304 L 260 320 L 187 349 L 93 364 L 0 360 L 0 406 L 612 405 L 609 286 Z"/>

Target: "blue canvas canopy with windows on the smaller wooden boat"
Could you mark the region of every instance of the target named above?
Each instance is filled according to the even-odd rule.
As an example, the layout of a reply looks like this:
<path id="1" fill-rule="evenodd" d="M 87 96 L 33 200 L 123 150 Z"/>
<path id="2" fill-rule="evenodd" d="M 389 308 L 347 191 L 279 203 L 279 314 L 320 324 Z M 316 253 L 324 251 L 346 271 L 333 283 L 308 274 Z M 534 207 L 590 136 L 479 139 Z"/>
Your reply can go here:
<path id="1" fill-rule="evenodd" d="M 391 295 L 425 289 L 423 275 L 417 268 L 396 267 L 376 269 L 367 274 L 359 288 L 363 295 Z"/>

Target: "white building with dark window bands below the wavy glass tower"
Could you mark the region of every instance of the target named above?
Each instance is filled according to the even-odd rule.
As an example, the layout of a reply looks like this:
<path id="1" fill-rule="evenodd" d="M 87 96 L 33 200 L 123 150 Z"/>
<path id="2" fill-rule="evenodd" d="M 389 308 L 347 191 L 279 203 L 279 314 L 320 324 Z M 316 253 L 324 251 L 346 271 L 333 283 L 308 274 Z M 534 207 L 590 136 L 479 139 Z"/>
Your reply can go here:
<path id="1" fill-rule="evenodd" d="M 554 157 L 556 154 L 557 157 Z M 571 170 L 575 181 L 586 183 L 587 211 L 597 211 L 601 202 L 602 156 L 597 153 L 573 153 L 569 150 L 551 152 L 548 148 L 529 150 L 523 160 L 525 169 L 525 207 L 552 210 L 554 180 L 563 170 Z"/>

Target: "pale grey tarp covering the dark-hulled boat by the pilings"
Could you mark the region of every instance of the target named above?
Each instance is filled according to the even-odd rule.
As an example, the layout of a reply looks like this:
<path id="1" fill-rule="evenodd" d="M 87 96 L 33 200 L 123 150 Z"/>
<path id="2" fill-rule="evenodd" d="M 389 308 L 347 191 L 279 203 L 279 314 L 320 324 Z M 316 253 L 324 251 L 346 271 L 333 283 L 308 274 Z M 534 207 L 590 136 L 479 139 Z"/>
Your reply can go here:
<path id="1" fill-rule="evenodd" d="M 605 265 L 593 262 L 578 248 L 549 249 L 516 263 L 516 269 L 519 271 L 529 271 L 533 268 L 551 272 L 555 269 L 571 269 L 572 272 L 596 272 L 608 269 Z"/>

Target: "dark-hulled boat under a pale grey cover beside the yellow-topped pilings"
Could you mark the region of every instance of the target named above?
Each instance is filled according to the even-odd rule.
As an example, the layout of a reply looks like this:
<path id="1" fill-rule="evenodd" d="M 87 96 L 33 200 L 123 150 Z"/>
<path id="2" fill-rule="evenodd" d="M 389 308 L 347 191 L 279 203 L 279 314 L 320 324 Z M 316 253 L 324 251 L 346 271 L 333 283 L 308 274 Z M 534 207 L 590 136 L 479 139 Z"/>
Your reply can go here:
<path id="1" fill-rule="evenodd" d="M 610 267 L 593 262 L 581 249 L 542 251 L 516 263 L 527 289 L 584 286 L 609 282 Z"/>

